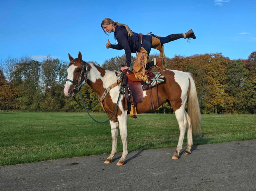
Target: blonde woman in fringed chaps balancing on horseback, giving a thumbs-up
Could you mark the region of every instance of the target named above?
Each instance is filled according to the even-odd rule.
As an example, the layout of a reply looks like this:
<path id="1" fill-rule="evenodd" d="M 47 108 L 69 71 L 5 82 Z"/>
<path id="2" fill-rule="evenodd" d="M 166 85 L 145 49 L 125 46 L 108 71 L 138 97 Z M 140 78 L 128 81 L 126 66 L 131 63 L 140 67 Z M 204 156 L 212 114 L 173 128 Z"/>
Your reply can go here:
<path id="1" fill-rule="evenodd" d="M 151 62 L 147 63 L 147 57 L 150 53 L 151 48 L 155 48 L 159 51 L 162 51 L 162 45 L 180 38 L 193 38 L 196 39 L 196 36 L 193 30 L 189 30 L 187 33 L 181 34 L 171 34 L 166 37 L 156 37 L 155 35 L 141 35 L 133 32 L 127 25 L 120 24 L 116 21 L 113 21 L 110 18 L 105 18 L 101 23 L 101 28 L 104 33 L 107 34 L 114 32 L 115 39 L 118 44 L 111 44 L 108 39 L 106 48 L 112 48 L 116 50 L 125 51 L 126 56 L 126 66 L 121 68 L 121 71 L 124 71 L 130 67 L 131 64 L 131 53 L 137 53 L 137 58 L 134 63 L 132 71 L 135 74 L 137 79 L 147 81 L 147 76 L 145 71 L 147 71 L 152 66 L 156 66 L 158 69 L 157 72 L 162 70 L 163 59 L 153 59 Z"/>

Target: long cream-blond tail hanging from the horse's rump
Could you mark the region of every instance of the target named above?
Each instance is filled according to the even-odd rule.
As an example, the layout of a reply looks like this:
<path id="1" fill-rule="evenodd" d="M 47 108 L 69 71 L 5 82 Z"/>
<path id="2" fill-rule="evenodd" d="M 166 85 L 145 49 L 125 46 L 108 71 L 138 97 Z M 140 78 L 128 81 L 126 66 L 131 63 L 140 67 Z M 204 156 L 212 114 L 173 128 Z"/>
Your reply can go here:
<path id="1" fill-rule="evenodd" d="M 200 135 L 201 131 L 201 113 L 197 97 L 197 89 L 193 77 L 187 73 L 190 80 L 189 94 L 187 98 L 187 113 L 191 120 L 192 133 Z"/>

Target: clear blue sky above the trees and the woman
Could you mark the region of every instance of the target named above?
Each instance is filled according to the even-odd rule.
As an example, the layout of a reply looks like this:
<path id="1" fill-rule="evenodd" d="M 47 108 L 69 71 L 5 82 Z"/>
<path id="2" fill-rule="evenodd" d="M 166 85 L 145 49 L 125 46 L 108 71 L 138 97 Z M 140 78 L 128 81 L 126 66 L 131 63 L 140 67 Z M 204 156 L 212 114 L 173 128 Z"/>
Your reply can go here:
<path id="1" fill-rule="evenodd" d="M 101 21 L 109 17 L 134 32 L 158 36 L 193 29 L 197 39 L 165 44 L 165 56 L 222 53 L 232 60 L 247 59 L 256 51 L 256 0 L 161 1 L 34 1 L 9 0 L 0 6 L 0 63 L 8 57 L 30 56 L 41 61 L 51 56 L 69 61 L 68 53 L 103 64 L 124 50 L 114 44 Z M 150 54 L 158 53 L 152 49 Z M 135 56 L 135 54 L 133 54 Z"/>

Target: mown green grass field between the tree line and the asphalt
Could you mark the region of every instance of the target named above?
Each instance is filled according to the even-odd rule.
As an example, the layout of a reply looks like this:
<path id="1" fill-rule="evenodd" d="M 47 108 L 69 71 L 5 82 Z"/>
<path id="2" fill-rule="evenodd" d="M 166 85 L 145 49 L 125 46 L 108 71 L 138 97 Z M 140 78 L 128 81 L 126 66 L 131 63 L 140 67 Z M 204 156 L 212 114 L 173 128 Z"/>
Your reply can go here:
<path id="1" fill-rule="evenodd" d="M 106 113 L 92 113 L 106 121 Z M 194 145 L 256 139 L 256 115 L 202 115 Z M 174 114 L 128 115 L 128 152 L 176 147 Z M 111 152 L 109 122 L 87 113 L 0 112 L 0 166 Z M 186 145 L 186 136 L 183 145 Z M 117 151 L 122 152 L 118 137 Z"/>

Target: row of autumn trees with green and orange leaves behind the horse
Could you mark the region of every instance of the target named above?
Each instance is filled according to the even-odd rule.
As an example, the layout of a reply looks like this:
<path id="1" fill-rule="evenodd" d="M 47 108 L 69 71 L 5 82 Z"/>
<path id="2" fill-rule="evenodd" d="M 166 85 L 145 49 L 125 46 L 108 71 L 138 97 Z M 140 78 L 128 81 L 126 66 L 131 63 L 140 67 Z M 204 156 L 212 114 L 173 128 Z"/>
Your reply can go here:
<path id="1" fill-rule="evenodd" d="M 158 55 L 151 55 L 148 60 Z M 131 68 L 135 61 L 132 56 Z M 120 70 L 125 55 L 105 60 L 101 67 Z M 99 65 L 96 62 L 93 62 Z M 100 65 L 99 65 L 100 66 Z M 29 111 L 84 111 L 73 98 L 63 94 L 68 62 L 50 56 L 42 62 L 30 57 L 0 63 L 0 109 Z M 256 113 L 256 52 L 247 60 L 230 60 L 221 53 L 165 58 L 163 69 L 193 74 L 203 114 Z M 155 71 L 153 69 L 152 71 Z M 87 107 L 103 112 L 98 95 L 88 86 L 81 89 Z M 79 96 L 77 96 L 79 100 Z M 158 112 L 173 112 L 167 103 Z"/>

